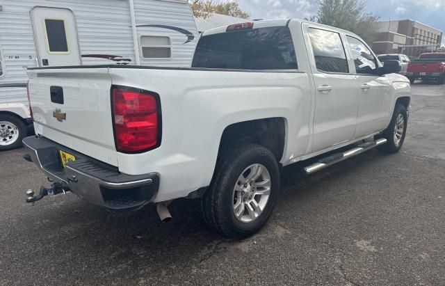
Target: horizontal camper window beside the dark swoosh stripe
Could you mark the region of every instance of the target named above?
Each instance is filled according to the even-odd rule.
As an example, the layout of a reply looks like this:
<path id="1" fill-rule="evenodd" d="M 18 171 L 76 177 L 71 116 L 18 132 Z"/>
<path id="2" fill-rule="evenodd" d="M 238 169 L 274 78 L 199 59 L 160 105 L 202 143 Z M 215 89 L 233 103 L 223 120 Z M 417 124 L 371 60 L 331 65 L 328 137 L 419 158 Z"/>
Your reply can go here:
<path id="1" fill-rule="evenodd" d="M 141 35 L 140 49 L 143 58 L 171 58 L 172 41 L 170 37 Z"/>

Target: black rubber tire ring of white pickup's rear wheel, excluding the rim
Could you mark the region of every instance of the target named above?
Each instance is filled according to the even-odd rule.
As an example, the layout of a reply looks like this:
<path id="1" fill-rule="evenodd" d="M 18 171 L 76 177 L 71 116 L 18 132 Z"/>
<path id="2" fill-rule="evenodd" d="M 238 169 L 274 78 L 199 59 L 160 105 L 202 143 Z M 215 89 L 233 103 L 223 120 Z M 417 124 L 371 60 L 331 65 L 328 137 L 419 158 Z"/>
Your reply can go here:
<path id="1" fill-rule="evenodd" d="M 231 152 L 226 152 L 222 158 L 218 162 L 211 185 L 202 198 L 204 221 L 224 237 L 232 239 L 249 237 L 264 226 L 273 211 L 280 189 L 280 170 L 277 159 L 267 148 L 255 144 L 241 145 Z M 234 213 L 236 203 L 234 188 L 238 184 L 238 177 L 245 174 L 244 170 L 253 164 L 261 164 L 268 170 L 270 194 L 261 214 L 253 221 L 243 222 Z M 243 211 L 243 214 L 244 212 L 248 210 Z"/>

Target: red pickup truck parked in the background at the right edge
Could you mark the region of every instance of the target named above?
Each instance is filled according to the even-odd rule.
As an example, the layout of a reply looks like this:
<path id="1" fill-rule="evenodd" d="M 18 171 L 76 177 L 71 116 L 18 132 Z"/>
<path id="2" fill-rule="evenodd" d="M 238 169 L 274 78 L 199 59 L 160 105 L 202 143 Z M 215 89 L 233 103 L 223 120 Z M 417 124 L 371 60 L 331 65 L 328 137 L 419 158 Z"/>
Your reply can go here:
<path id="1" fill-rule="evenodd" d="M 414 83 L 416 79 L 422 81 L 437 81 L 445 83 L 445 53 L 424 53 L 412 60 L 408 65 L 406 76 Z"/>

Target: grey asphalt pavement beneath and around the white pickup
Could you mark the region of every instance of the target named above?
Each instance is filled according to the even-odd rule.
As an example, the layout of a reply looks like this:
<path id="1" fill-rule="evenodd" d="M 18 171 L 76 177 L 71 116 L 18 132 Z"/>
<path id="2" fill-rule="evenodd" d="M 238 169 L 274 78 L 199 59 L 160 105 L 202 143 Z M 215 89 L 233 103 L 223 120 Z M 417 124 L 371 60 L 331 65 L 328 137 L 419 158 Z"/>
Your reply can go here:
<path id="1" fill-rule="evenodd" d="M 72 193 L 24 203 L 47 184 L 0 152 L 0 285 L 444 285 L 445 86 L 414 84 L 407 138 L 302 175 L 284 168 L 257 235 L 222 239 L 193 200 L 108 214 Z"/>

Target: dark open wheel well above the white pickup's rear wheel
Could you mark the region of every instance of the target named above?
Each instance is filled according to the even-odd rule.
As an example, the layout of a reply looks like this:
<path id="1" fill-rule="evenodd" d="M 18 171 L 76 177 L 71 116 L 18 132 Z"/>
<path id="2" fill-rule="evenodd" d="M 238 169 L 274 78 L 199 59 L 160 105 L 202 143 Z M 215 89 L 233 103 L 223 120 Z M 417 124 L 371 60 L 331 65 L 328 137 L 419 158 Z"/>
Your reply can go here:
<path id="1" fill-rule="evenodd" d="M 237 122 L 225 128 L 218 150 L 218 160 L 227 150 L 243 143 L 262 145 L 280 161 L 284 152 L 284 118 L 265 118 Z"/>

